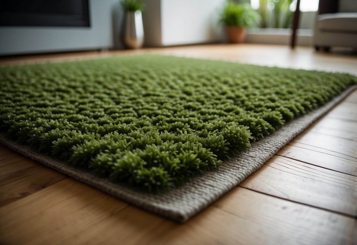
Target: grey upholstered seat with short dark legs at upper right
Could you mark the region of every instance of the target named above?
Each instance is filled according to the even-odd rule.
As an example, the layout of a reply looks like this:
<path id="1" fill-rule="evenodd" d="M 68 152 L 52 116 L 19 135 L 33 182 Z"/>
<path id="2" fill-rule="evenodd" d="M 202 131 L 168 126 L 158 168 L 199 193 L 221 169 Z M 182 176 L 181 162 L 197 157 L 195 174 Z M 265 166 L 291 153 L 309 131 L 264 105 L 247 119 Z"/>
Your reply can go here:
<path id="1" fill-rule="evenodd" d="M 357 49 L 357 0 L 320 0 L 313 42 L 316 50 Z"/>

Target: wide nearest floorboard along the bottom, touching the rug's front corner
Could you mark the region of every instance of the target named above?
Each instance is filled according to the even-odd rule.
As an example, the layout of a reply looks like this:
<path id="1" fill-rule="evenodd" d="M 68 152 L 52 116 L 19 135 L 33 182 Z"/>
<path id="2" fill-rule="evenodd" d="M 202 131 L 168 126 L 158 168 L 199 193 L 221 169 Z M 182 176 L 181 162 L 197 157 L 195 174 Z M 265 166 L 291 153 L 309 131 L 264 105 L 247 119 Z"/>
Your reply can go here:
<path id="1" fill-rule="evenodd" d="M 348 244 L 355 225 L 353 218 L 241 187 L 177 224 L 72 179 L 1 207 L 0 215 L 2 241 L 29 245 Z"/>

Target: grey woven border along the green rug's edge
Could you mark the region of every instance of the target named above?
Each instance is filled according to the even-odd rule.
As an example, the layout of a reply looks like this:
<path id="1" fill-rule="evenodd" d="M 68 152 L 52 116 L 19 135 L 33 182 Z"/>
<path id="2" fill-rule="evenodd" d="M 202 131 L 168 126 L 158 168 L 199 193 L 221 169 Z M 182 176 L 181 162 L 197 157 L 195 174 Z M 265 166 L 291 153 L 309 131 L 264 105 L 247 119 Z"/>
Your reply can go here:
<path id="1" fill-rule="evenodd" d="M 246 152 L 223 162 L 218 170 L 193 177 L 190 182 L 181 187 L 160 194 L 142 192 L 126 185 L 115 184 L 106 179 L 101 179 L 88 172 L 75 169 L 66 164 L 66 162 L 39 154 L 28 146 L 19 145 L 6 139 L 4 135 L 0 135 L 0 143 L 135 206 L 179 222 L 185 222 L 240 184 L 247 176 L 259 169 L 278 150 L 291 141 L 293 137 L 326 114 L 355 89 L 357 89 L 357 85 L 349 87 L 324 106 L 294 119 L 273 134 L 255 142 Z"/>

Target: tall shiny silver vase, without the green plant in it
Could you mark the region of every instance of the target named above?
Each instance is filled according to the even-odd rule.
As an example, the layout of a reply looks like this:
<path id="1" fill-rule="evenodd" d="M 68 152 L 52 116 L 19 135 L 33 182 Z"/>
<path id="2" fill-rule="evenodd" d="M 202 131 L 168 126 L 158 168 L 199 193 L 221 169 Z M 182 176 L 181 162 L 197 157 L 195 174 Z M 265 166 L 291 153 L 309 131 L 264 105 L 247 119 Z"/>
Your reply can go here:
<path id="1" fill-rule="evenodd" d="M 141 11 L 126 12 L 124 44 L 130 49 L 139 49 L 144 43 L 144 27 Z"/>

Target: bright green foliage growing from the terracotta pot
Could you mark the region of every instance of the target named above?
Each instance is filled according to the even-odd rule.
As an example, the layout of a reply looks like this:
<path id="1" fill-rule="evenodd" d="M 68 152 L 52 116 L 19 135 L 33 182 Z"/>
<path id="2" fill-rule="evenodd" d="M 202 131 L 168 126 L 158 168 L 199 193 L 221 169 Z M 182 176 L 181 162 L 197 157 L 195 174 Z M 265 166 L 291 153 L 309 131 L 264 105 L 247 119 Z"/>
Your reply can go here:
<path id="1" fill-rule="evenodd" d="M 220 22 L 226 26 L 253 27 L 259 15 L 252 9 L 250 4 L 237 4 L 227 1 L 221 12 Z"/>

